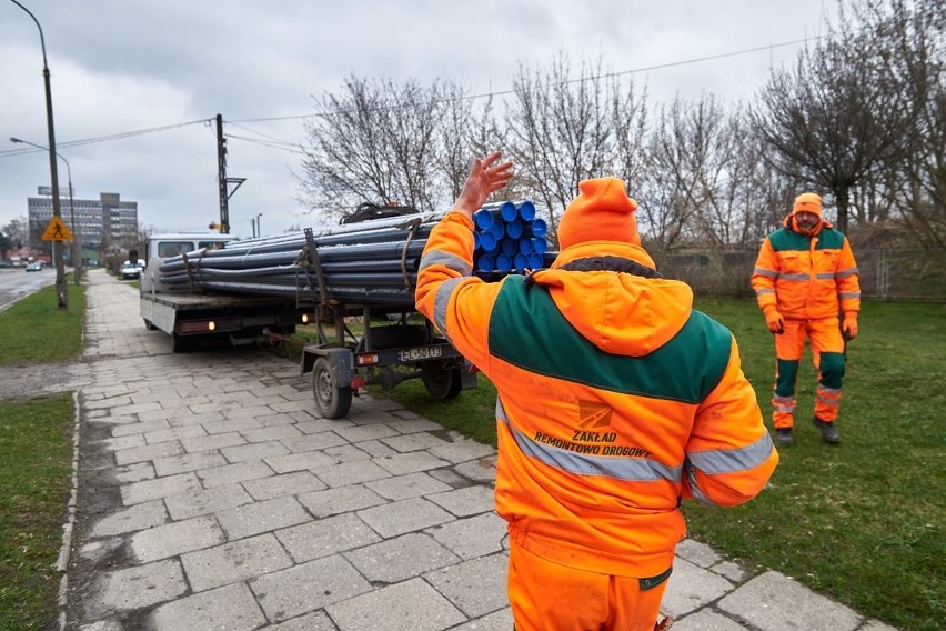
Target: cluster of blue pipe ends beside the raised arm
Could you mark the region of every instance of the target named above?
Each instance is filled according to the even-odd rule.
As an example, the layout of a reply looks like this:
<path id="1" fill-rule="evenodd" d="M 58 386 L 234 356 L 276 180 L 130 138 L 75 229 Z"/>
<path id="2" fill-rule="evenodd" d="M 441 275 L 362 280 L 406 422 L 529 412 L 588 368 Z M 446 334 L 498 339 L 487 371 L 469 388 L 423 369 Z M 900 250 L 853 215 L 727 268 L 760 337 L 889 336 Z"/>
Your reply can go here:
<path id="1" fill-rule="evenodd" d="M 473 267 L 477 273 L 540 269 L 549 249 L 547 226 L 530 200 L 486 204 L 473 213 Z"/>

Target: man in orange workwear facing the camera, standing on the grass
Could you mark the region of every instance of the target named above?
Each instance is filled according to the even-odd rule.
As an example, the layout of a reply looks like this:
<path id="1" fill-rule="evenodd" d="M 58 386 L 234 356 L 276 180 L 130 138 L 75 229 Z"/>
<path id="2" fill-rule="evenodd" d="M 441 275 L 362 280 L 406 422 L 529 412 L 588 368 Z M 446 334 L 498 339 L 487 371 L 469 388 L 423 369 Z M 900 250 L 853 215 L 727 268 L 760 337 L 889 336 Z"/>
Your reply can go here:
<path id="1" fill-rule="evenodd" d="M 775 334 L 776 372 L 772 395 L 775 441 L 795 442 L 795 381 L 805 339 L 818 371 L 812 419 L 829 444 L 841 442 L 837 407 L 844 378 L 844 343 L 857 337 L 861 284 L 847 238 L 822 218 L 822 198 L 795 198 L 783 227 L 766 237 L 752 287 Z M 838 313 L 843 313 L 839 320 Z"/>

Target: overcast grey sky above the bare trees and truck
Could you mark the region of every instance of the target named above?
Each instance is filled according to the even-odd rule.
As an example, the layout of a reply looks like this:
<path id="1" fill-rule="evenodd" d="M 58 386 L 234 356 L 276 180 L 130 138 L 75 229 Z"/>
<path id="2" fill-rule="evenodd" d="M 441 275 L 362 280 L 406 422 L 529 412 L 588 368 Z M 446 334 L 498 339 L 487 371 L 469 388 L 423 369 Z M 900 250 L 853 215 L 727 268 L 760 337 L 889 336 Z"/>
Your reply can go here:
<path id="1" fill-rule="evenodd" d="M 266 143 L 304 143 L 302 117 L 349 74 L 500 92 L 520 63 L 549 68 L 564 51 L 574 68 L 601 56 L 606 70 L 646 86 L 652 103 L 701 92 L 736 100 L 801 47 L 777 44 L 822 33 L 835 11 L 834 0 L 20 2 L 46 38 L 57 149 L 76 197 L 118 192 L 138 202 L 142 227 L 205 229 L 220 216 L 217 132 L 202 121 L 221 113 L 232 121 L 225 132 L 241 137 L 228 140 L 228 176 L 246 178 L 230 198 L 231 232 L 243 237 L 259 213 L 264 234 L 319 226 L 296 201 L 300 156 Z M 757 47 L 773 48 L 630 72 Z M 154 128 L 167 129 L 124 136 Z M 49 139 L 39 30 L 0 0 L 0 228 L 50 183 L 47 154 L 10 137 Z"/>

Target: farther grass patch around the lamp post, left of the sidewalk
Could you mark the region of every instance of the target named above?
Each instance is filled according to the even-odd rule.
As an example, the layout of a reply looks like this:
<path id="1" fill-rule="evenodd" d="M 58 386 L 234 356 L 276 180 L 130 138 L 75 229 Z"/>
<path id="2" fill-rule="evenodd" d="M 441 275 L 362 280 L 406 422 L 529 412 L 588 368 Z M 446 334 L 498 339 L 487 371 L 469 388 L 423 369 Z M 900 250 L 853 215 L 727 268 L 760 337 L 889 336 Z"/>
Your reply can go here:
<path id="1" fill-rule="evenodd" d="M 68 310 L 59 309 L 52 286 L 20 300 L 0 313 L 0 365 L 76 359 L 84 311 L 84 287 L 72 283 Z"/>

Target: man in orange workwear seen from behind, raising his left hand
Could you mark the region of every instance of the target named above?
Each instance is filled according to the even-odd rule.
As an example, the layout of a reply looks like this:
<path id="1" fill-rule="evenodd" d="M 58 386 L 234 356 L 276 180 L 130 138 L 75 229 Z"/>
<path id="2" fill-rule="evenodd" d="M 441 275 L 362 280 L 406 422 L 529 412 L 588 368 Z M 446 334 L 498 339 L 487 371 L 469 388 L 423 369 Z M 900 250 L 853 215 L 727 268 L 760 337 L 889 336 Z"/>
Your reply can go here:
<path id="1" fill-rule="evenodd" d="M 653 631 L 680 503 L 751 500 L 778 462 L 732 333 L 641 248 L 624 182 L 581 182 L 551 269 L 472 276 L 472 214 L 505 187 L 476 160 L 432 230 L 416 304 L 496 387 L 496 509 L 519 631 Z"/>

